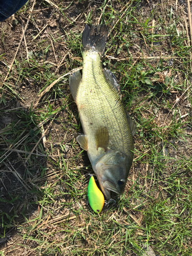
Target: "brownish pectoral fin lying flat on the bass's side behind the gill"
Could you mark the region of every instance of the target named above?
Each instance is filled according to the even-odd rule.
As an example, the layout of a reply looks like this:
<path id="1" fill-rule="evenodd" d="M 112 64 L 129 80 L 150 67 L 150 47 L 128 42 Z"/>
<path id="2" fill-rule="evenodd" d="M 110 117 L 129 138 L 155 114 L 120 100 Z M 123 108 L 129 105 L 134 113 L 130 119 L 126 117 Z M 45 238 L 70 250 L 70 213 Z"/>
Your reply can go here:
<path id="1" fill-rule="evenodd" d="M 106 152 L 106 150 L 108 148 L 108 143 L 109 143 L 108 129 L 104 126 L 98 127 L 96 134 L 95 134 L 95 139 L 96 139 L 97 150 L 99 147 L 101 147 Z"/>

